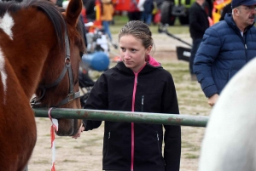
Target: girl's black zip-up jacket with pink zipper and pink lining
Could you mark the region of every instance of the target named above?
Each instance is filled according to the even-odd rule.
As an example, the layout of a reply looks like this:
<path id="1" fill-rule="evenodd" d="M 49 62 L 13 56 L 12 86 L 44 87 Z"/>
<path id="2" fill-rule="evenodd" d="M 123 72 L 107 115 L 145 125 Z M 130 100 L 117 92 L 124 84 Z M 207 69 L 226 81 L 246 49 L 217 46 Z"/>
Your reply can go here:
<path id="1" fill-rule="evenodd" d="M 134 111 L 178 114 L 177 95 L 171 74 L 155 60 L 151 59 L 149 63 L 137 74 L 137 78 L 123 62 L 105 71 L 96 81 L 84 108 L 132 111 L 132 101 L 135 100 Z M 134 85 L 137 85 L 135 89 Z M 134 90 L 136 90 L 135 98 L 133 98 Z M 101 123 L 101 121 L 87 121 L 85 130 L 98 128 Z M 164 128 L 165 134 L 160 124 L 106 121 L 103 170 L 130 171 L 133 162 L 134 171 L 178 171 L 181 153 L 180 127 L 164 125 Z M 131 157 L 132 133 L 134 133 L 133 157 Z M 163 138 L 164 157 L 161 151 Z"/>

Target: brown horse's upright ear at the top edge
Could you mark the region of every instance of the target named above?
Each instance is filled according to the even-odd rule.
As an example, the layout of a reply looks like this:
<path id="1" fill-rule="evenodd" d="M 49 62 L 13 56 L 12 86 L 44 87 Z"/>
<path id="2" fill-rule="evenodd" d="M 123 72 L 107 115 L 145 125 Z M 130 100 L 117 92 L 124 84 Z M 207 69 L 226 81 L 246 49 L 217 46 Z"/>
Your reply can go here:
<path id="1" fill-rule="evenodd" d="M 67 6 L 66 17 L 67 23 L 76 26 L 79 21 L 79 15 L 82 11 L 82 0 L 70 0 Z"/>

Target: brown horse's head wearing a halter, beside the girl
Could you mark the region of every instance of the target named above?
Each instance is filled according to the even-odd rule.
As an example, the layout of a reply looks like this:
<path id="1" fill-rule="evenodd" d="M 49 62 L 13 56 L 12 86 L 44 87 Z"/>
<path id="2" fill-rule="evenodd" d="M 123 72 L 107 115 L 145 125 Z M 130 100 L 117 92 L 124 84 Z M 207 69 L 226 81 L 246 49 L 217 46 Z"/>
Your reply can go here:
<path id="1" fill-rule="evenodd" d="M 44 63 L 36 90 L 37 97 L 32 105 L 34 107 L 81 108 L 79 62 L 85 51 L 83 24 L 79 22 L 81 10 L 82 2 L 71 0 L 67 10 L 61 13 L 63 22 L 55 26 L 55 29 L 60 27 L 61 32 L 59 34 L 56 32 L 52 40 L 49 40 L 53 46 Z M 49 14 L 49 16 L 53 15 Z M 72 136 L 79 130 L 82 120 L 58 119 L 58 123 L 59 128 L 56 134 Z"/>

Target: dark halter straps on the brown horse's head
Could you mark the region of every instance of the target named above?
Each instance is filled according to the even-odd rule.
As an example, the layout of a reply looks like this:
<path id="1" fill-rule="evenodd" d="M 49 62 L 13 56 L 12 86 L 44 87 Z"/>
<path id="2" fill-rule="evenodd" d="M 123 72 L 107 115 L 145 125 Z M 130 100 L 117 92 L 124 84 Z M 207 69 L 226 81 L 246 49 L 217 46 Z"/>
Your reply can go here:
<path id="1" fill-rule="evenodd" d="M 72 100 L 75 100 L 77 98 L 80 97 L 80 92 L 73 92 L 73 71 L 71 68 L 71 60 L 70 60 L 70 46 L 69 46 L 69 38 L 67 36 L 67 27 L 66 27 L 66 31 L 65 31 L 65 45 L 66 45 L 66 58 L 65 58 L 65 66 L 63 68 L 63 70 L 61 71 L 61 75 L 55 80 L 54 83 L 51 83 L 49 85 L 39 85 L 39 88 L 42 89 L 42 95 L 38 98 L 35 97 L 31 100 L 31 106 L 33 108 L 35 107 L 45 107 L 41 104 L 40 100 L 43 99 L 45 91 L 47 88 L 53 88 L 56 85 L 58 85 L 59 83 L 61 83 L 61 80 L 63 79 L 63 77 L 65 76 L 66 72 L 68 71 L 68 77 L 69 77 L 69 92 L 67 94 L 67 97 L 64 100 L 61 100 L 61 102 L 58 105 L 54 105 L 51 107 L 58 107 L 61 105 L 65 105 L 67 103 L 69 103 Z"/>

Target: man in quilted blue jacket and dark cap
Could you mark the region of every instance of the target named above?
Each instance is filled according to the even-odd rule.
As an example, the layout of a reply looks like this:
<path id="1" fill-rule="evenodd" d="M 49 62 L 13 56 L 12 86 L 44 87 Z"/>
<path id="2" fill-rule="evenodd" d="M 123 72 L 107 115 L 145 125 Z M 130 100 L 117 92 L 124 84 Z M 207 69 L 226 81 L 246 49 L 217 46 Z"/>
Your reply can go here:
<path id="1" fill-rule="evenodd" d="M 203 36 L 193 69 L 209 105 L 217 102 L 230 78 L 256 56 L 255 5 L 256 0 L 233 0 L 232 14 Z"/>

